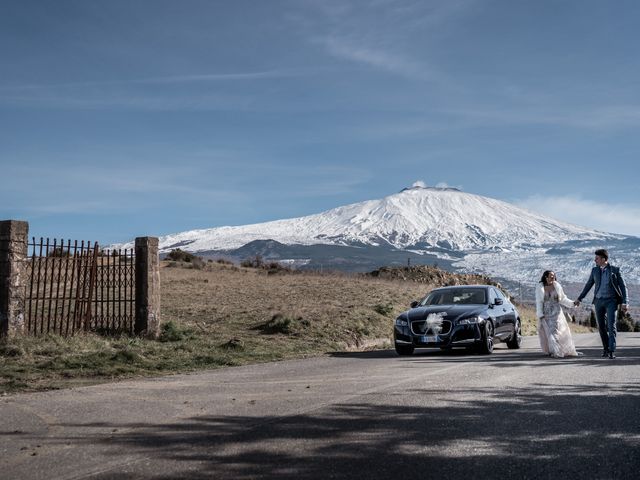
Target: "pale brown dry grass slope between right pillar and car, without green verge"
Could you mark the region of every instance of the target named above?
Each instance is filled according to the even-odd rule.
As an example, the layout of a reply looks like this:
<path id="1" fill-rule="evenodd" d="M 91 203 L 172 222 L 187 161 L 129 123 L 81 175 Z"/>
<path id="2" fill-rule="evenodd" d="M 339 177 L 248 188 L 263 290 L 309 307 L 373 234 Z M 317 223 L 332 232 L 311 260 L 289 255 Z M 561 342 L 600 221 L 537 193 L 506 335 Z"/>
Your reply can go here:
<path id="1" fill-rule="evenodd" d="M 314 352 L 388 339 L 392 319 L 430 288 L 339 273 L 270 275 L 219 264 L 205 270 L 164 268 L 162 278 L 165 319 L 223 342 L 302 343 Z M 274 316 L 291 320 L 289 335 L 265 337 L 262 327 Z"/>

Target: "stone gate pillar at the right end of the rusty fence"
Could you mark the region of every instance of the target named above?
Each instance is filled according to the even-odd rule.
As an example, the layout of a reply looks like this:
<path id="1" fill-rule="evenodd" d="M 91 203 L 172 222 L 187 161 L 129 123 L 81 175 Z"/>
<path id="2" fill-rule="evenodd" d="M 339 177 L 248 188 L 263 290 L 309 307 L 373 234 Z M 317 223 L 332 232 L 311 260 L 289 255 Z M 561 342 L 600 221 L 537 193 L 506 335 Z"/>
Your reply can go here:
<path id="1" fill-rule="evenodd" d="M 136 335 L 160 334 L 160 257 L 157 237 L 136 238 Z"/>

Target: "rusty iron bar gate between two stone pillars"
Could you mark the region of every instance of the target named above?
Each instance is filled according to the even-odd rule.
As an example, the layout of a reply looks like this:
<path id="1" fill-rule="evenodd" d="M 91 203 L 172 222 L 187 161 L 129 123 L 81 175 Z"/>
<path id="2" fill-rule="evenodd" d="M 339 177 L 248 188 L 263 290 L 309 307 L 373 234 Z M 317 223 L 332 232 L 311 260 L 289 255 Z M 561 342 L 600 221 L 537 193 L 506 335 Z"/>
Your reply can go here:
<path id="1" fill-rule="evenodd" d="M 103 250 L 97 242 L 35 237 L 28 246 L 26 333 L 133 333 L 133 249 Z"/>

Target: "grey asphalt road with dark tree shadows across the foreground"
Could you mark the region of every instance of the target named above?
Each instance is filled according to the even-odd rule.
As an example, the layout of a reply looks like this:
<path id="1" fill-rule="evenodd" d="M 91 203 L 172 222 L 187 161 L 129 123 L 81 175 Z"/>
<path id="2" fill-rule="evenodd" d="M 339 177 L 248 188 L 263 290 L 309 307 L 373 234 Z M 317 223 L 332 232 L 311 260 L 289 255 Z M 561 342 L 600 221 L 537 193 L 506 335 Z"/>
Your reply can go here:
<path id="1" fill-rule="evenodd" d="M 2 479 L 640 478 L 640 334 L 618 358 L 344 353 L 0 398 Z"/>

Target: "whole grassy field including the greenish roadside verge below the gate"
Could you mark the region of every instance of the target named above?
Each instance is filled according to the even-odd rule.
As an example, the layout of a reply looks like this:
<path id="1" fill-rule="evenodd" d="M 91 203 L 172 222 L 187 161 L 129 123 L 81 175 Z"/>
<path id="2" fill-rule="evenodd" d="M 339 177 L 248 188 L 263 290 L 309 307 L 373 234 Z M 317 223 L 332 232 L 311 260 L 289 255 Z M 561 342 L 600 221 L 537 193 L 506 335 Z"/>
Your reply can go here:
<path id="1" fill-rule="evenodd" d="M 391 348 L 397 314 L 439 286 L 340 273 L 272 273 L 164 262 L 159 341 L 82 334 L 0 343 L 0 393 Z M 535 334 L 535 312 L 519 310 L 524 334 Z"/>

